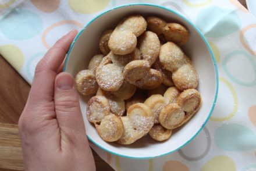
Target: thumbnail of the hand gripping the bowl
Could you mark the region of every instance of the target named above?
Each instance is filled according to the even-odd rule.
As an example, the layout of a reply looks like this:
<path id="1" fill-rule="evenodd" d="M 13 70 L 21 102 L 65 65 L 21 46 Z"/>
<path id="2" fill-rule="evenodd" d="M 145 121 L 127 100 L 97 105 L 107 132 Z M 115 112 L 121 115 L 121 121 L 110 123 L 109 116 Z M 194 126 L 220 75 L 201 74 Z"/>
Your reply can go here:
<path id="1" fill-rule="evenodd" d="M 69 90 L 73 87 L 73 77 L 70 74 L 61 73 L 56 80 L 56 86 L 61 90 Z"/>

